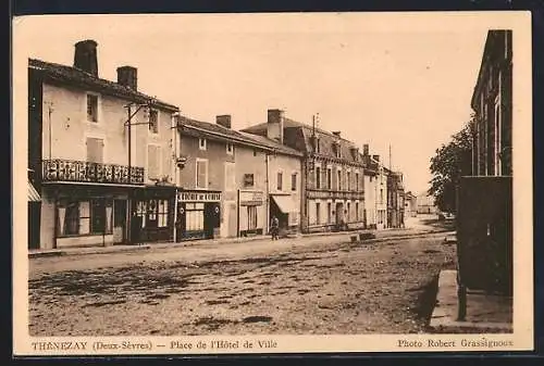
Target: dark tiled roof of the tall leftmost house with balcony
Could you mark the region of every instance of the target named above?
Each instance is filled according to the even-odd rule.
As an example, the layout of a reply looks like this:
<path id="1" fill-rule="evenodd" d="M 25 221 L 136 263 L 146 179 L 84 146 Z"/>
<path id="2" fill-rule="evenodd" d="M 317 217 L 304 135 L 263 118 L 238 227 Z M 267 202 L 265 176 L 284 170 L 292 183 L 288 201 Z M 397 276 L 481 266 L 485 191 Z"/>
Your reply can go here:
<path id="1" fill-rule="evenodd" d="M 173 112 L 180 109 L 173 104 L 157 100 L 137 90 L 133 90 L 121 84 L 102 79 L 89 74 L 83 70 L 73 66 L 61 65 L 52 62 L 46 62 L 37 59 L 28 59 L 28 68 L 39 71 L 50 80 L 74 84 L 89 88 L 94 91 L 100 91 L 114 97 L 124 98 L 132 101 L 149 102 L 158 108 Z"/>

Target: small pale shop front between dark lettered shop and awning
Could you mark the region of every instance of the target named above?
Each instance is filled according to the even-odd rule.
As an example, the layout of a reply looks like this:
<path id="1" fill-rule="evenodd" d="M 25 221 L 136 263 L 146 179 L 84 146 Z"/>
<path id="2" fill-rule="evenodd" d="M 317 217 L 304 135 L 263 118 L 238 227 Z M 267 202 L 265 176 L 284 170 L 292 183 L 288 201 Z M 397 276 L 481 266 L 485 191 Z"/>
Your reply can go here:
<path id="1" fill-rule="evenodd" d="M 262 235 L 265 223 L 264 192 L 239 190 L 238 207 L 238 236 Z"/>

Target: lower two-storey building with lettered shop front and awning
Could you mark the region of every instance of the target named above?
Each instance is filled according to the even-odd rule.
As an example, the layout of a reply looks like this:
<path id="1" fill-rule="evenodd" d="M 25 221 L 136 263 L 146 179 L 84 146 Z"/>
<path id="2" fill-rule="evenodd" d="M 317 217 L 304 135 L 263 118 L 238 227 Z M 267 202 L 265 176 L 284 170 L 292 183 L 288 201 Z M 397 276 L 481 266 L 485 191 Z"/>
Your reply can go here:
<path id="1" fill-rule="evenodd" d="M 177 240 L 268 234 L 272 216 L 282 228 L 298 230 L 297 151 L 232 129 L 230 115 L 217 116 L 215 124 L 181 116 L 178 131 Z"/>

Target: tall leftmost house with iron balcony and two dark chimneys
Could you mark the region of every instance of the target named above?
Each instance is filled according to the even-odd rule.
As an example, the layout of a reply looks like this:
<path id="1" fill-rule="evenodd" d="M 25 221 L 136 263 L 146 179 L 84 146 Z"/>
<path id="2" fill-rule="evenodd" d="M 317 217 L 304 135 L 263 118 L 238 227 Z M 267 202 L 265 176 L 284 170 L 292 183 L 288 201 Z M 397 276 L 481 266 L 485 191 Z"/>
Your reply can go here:
<path id="1" fill-rule="evenodd" d="M 137 90 L 137 70 L 98 75 L 97 43 L 73 66 L 28 61 L 28 168 L 41 202 L 30 248 L 171 240 L 177 108 Z"/>

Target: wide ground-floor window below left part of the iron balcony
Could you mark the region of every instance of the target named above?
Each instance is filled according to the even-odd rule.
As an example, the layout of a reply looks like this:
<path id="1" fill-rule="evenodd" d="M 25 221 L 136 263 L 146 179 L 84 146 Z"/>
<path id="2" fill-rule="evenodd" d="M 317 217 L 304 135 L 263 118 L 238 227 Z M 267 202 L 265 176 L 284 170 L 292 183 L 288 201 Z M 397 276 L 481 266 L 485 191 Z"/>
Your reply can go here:
<path id="1" fill-rule="evenodd" d="M 61 201 L 57 207 L 59 237 L 111 234 L 113 201 Z"/>

